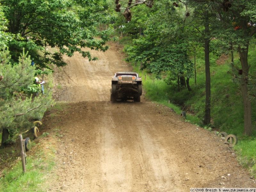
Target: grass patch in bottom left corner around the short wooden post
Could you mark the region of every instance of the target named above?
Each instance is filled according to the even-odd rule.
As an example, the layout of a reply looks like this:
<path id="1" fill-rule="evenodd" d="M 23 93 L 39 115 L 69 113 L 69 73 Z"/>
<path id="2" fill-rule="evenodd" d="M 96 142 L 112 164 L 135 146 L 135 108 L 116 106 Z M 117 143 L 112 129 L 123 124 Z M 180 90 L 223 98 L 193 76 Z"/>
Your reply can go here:
<path id="1" fill-rule="evenodd" d="M 38 145 L 40 146 L 40 143 Z M 46 175 L 55 164 L 55 148 L 51 143 L 47 143 L 46 146 L 47 150 L 36 147 L 36 152 L 32 148 L 27 153 L 26 172 L 24 174 L 22 173 L 20 157 L 10 168 L 4 169 L 0 177 L 0 191 L 46 191 L 47 186 L 44 186 L 43 183 L 44 180 L 49 179 L 46 178 Z"/>

